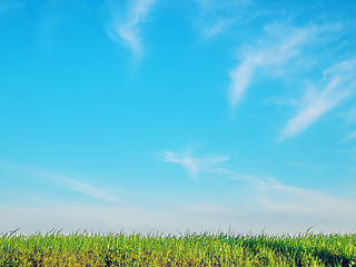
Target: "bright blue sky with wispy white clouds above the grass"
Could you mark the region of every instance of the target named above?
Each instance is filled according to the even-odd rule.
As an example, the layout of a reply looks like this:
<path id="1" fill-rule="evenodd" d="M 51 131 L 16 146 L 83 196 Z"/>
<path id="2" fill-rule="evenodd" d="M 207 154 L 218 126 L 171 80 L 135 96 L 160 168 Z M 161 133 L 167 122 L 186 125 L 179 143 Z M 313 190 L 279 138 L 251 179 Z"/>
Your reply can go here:
<path id="1" fill-rule="evenodd" d="M 355 13 L 0 0 L 0 233 L 355 233 Z"/>

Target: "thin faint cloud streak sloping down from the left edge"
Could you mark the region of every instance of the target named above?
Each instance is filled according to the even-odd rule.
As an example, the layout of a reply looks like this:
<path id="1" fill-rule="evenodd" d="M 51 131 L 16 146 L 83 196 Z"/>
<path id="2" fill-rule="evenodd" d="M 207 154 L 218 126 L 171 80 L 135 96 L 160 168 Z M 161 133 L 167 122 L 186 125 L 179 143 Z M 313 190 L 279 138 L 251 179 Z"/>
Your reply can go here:
<path id="1" fill-rule="evenodd" d="M 47 170 L 37 169 L 28 166 L 11 165 L 8 162 L 0 162 L 0 166 L 13 169 L 24 175 L 44 179 L 49 182 L 55 182 L 56 185 L 59 185 L 63 188 L 68 188 L 72 191 L 77 191 L 99 200 L 106 200 L 111 202 L 119 201 L 115 196 L 111 196 L 109 192 L 103 191 L 88 182 L 81 181 L 79 179 L 75 179 L 70 176 L 52 174 Z"/>

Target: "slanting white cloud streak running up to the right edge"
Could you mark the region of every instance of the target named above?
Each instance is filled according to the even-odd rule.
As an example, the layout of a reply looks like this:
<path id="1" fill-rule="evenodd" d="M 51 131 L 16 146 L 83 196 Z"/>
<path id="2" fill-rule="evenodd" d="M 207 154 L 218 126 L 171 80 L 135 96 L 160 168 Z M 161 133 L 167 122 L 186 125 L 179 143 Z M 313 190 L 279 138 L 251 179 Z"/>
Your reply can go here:
<path id="1" fill-rule="evenodd" d="M 308 89 L 303 99 L 300 111 L 287 121 L 280 130 L 279 140 L 290 138 L 319 119 L 325 112 L 334 108 L 342 100 L 354 92 L 356 80 L 356 60 L 343 61 L 324 71 L 319 87 Z"/>

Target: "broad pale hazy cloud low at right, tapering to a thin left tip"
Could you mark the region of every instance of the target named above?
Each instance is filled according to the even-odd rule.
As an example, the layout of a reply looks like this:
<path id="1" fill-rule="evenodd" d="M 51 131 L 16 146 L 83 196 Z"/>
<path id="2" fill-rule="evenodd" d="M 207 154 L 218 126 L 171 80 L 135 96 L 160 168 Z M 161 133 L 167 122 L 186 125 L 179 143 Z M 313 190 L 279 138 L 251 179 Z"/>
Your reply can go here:
<path id="1" fill-rule="evenodd" d="M 249 207 L 251 210 L 299 217 L 304 218 L 305 221 L 318 224 L 318 227 L 325 225 L 323 224 L 324 220 L 335 220 L 335 218 L 338 218 L 338 221 L 347 221 L 348 226 L 352 226 L 349 222 L 356 218 L 355 199 L 334 197 L 317 190 L 287 186 L 274 177 L 239 174 L 229 169 L 221 170 L 219 174 L 249 186 L 245 187 L 245 190 L 250 190 L 254 195 L 254 199 L 250 199 L 254 202 Z M 334 230 L 336 226 L 333 226 Z"/>

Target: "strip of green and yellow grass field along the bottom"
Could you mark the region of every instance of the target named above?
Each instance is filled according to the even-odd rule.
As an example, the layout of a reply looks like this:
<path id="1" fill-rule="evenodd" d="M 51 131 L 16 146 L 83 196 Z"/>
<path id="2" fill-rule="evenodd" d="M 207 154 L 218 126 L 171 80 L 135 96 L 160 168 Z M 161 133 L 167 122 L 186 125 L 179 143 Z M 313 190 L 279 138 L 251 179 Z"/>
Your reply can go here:
<path id="1" fill-rule="evenodd" d="M 356 235 L 7 233 L 0 266 L 356 266 Z"/>

